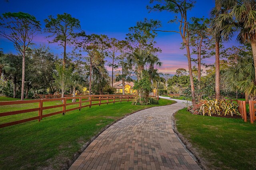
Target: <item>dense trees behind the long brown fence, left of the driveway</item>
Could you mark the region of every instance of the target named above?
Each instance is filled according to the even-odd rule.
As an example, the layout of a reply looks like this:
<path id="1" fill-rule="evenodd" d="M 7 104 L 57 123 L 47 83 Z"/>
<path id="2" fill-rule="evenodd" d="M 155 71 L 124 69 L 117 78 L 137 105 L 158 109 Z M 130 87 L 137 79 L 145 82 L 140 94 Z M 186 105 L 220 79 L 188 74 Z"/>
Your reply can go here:
<path id="1" fill-rule="evenodd" d="M 124 81 L 134 81 L 131 76 L 135 74 L 139 103 L 142 98 L 147 103 L 151 83 L 159 77 L 155 67 L 161 65 L 157 57 L 161 50 L 155 47 L 156 33 L 142 22 L 129 28 L 126 39 L 118 40 L 86 34 L 80 29 L 80 21 L 70 14 L 49 16 L 44 20 L 44 33 L 49 43 L 57 43 L 63 49 L 58 56 L 46 45 L 34 46 L 32 40 L 41 31 L 34 16 L 5 13 L 0 19 L 0 35 L 12 41 L 22 55 L 0 53 L 2 94 L 22 100 L 37 94 L 114 94 L 115 80 L 123 82 L 124 93 Z M 110 62 L 106 63 L 106 59 Z M 106 65 L 112 68 L 111 76 Z M 138 86 L 140 80 L 146 86 Z"/>

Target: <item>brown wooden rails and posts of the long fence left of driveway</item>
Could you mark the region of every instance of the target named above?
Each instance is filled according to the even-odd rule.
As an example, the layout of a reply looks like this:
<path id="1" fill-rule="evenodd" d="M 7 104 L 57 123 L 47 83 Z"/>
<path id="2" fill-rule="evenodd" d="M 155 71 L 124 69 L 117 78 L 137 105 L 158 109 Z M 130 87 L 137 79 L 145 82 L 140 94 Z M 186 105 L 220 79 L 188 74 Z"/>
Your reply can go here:
<path id="1" fill-rule="evenodd" d="M 55 95 L 53 95 L 53 96 L 55 96 Z M 18 121 L 12 121 L 12 122 L 8 122 L 8 123 L 3 123 L 3 124 L 0 124 L 0 128 L 11 126 L 11 125 L 16 125 L 16 124 L 36 120 L 36 119 L 38 119 L 38 121 L 41 121 L 42 118 L 44 118 L 44 117 L 48 117 L 48 116 L 52 116 L 52 115 L 56 115 L 56 114 L 60 114 L 60 113 L 62 113 L 64 115 L 68 111 L 73 111 L 76 109 L 81 110 L 84 107 L 91 107 L 94 105 L 100 106 L 101 104 L 109 104 L 109 103 L 115 103 L 115 102 L 129 102 L 129 101 L 132 101 L 135 97 L 136 97 L 136 95 L 87 95 L 87 96 L 83 95 L 83 96 L 65 97 L 65 98 L 47 98 L 47 99 L 39 99 L 39 100 L 0 102 L 0 106 L 38 103 L 37 108 L 23 109 L 23 110 L 17 110 L 17 111 L 8 111 L 8 112 L 0 113 L 0 117 L 3 117 L 3 116 L 38 111 L 38 116 L 30 117 L 30 118 L 22 119 L 22 120 L 18 120 Z M 159 100 L 159 96 L 150 96 L 150 97 L 153 97 L 153 98 L 156 98 L 157 100 Z M 62 100 L 62 104 L 44 107 L 44 102 L 52 102 L 52 101 L 59 101 L 59 100 Z M 76 101 L 74 101 L 72 103 L 67 103 L 67 100 L 76 100 Z M 82 104 L 86 103 L 86 102 L 88 104 L 85 106 L 82 106 Z M 98 103 L 96 103 L 96 102 L 98 102 Z M 71 105 L 78 105 L 78 106 L 71 108 L 71 109 L 66 109 L 66 106 L 71 106 Z M 47 113 L 47 114 L 43 115 L 43 110 L 53 109 L 53 108 L 58 108 L 58 107 L 62 108 L 62 110 L 55 111 L 52 113 Z"/>

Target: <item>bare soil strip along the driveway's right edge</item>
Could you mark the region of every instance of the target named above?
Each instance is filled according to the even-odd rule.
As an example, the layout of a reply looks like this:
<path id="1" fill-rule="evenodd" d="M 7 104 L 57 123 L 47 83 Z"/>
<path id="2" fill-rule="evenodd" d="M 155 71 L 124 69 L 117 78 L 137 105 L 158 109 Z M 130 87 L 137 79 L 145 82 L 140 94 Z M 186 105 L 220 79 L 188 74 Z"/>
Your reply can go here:
<path id="1" fill-rule="evenodd" d="M 185 108 L 185 107 L 184 107 Z M 172 130 L 174 131 L 176 137 L 180 141 L 180 143 L 183 145 L 183 147 L 186 149 L 186 151 L 190 154 L 190 156 L 196 161 L 196 163 L 202 168 L 202 170 L 207 170 L 208 167 L 206 166 L 205 162 L 206 160 L 202 159 L 199 156 L 199 153 L 195 147 L 192 147 L 192 143 L 188 141 L 181 133 L 178 132 L 177 126 L 176 126 L 176 119 L 175 115 L 180 111 L 181 109 L 177 110 L 172 115 Z"/>

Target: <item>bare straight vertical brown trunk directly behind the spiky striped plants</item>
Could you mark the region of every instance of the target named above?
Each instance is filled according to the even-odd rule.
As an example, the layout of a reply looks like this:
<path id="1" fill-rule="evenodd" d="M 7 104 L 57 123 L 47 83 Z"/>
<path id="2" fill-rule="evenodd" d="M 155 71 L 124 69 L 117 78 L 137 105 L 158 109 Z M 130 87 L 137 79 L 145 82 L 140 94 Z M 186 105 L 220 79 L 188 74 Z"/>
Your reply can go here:
<path id="1" fill-rule="evenodd" d="M 220 100 L 220 42 L 215 43 L 215 98 Z"/>

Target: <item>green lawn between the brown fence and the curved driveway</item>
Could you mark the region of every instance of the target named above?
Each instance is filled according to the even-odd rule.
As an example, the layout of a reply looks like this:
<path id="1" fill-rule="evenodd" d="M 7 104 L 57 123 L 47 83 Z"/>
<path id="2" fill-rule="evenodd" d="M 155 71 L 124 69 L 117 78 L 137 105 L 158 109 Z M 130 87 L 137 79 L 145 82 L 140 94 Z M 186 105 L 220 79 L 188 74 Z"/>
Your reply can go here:
<path id="1" fill-rule="evenodd" d="M 131 102 L 103 104 L 70 111 L 64 116 L 46 117 L 40 122 L 2 128 L 0 169 L 62 169 L 62 164 L 71 160 L 74 153 L 106 125 L 140 109 L 174 101 L 160 99 L 159 103 L 149 106 L 134 106 Z"/>

